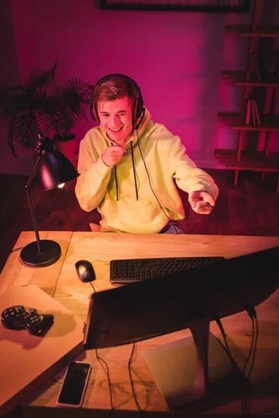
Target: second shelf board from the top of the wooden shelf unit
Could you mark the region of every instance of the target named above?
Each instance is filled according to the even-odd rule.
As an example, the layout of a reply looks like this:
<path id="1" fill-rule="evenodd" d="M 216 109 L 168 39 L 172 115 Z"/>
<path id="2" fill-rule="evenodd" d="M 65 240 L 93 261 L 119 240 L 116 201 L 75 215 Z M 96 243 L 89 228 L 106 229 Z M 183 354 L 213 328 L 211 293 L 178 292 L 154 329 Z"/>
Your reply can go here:
<path id="1" fill-rule="evenodd" d="M 261 81 L 257 79 L 256 72 L 250 73 L 247 79 L 246 71 L 222 71 L 224 78 L 230 78 L 236 86 L 259 86 L 259 87 L 279 87 L 279 77 L 275 72 L 269 73 Z"/>

